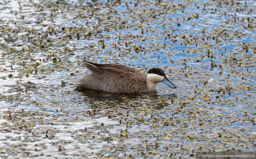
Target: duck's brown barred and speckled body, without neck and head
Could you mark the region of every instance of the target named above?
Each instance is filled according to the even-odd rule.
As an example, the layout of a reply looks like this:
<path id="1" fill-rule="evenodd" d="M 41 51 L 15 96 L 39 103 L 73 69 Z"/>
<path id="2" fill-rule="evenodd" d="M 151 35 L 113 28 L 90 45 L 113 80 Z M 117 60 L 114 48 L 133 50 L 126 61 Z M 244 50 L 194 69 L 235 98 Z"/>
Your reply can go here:
<path id="1" fill-rule="evenodd" d="M 99 89 L 113 93 L 139 93 L 147 92 L 144 75 L 134 68 L 114 65 L 84 62 L 92 72 L 75 82 L 81 87 Z"/>

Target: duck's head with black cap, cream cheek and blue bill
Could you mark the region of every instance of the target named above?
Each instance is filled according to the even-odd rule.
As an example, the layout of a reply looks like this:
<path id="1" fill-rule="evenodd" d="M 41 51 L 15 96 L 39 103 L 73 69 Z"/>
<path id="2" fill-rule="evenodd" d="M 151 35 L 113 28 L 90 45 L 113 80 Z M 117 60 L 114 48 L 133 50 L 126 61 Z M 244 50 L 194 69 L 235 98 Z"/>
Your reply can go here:
<path id="1" fill-rule="evenodd" d="M 170 88 L 177 88 L 175 84 L 169 81 L 164 71 L 158 67 L 154 67 L 147 72 L 146 82 L 150 82 L 153 84 L 157 84 L 158 82 L 163 82 Z"/>

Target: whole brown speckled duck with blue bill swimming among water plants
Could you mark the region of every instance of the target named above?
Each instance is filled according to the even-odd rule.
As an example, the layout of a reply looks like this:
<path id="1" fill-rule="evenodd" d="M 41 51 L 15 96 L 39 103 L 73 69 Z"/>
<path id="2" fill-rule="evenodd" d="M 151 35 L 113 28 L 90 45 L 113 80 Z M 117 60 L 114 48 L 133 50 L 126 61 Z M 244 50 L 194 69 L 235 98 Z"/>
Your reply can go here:
<path id="1" fill-rule="evenodd" d="M 156 91 L 156 84 L 162 82 L 170 88 L 177 88 L 159 67 L 151 68 L 145 77 L 139 70 L 119 64 L 86 61 L 84 65 L 92 73 L 74 82 L 79 87 L 111 93 L 143 93 Z"/>

